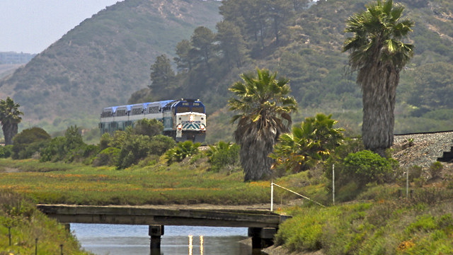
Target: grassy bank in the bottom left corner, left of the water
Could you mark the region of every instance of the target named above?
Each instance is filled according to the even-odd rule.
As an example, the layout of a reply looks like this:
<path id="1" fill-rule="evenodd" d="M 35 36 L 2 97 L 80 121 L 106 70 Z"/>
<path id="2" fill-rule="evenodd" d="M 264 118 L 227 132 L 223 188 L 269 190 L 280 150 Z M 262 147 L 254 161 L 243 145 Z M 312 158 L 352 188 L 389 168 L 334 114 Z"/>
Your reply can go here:
<path id="1" fill-rule="evenodd" d="M 11 233 L 11 235 L 10 235 Z M 90 254 L 63 225 L 18 193 L 0 190 L 0 254 Z"/>

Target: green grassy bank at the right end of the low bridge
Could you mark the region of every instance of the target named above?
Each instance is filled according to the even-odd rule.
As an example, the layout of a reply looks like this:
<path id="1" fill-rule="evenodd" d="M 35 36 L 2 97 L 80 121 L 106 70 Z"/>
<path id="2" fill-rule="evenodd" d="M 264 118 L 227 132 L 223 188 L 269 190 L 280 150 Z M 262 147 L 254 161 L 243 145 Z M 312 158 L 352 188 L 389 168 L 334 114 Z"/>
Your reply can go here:
<path id="1" fill-rule="evenodd" d="M 362 202 L 289 208 L 294 217 L 281 225 L 276 244 L 329 255 L 453 254 L 453 190 L 418 188 L 395 198 L 398 190 L 378 186 L 362 193 Z"/>

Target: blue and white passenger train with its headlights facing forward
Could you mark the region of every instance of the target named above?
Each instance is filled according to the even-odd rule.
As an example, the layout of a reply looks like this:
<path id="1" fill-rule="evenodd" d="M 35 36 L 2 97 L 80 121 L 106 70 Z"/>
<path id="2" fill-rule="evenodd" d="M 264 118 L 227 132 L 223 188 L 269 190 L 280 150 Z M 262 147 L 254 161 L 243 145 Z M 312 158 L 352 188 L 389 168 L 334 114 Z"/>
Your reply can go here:
<path id="1" fill-rule="evenodd" d="M 134 127 L 137 120 L 156 119 L 164 124 L 164 135 L 176 142 L 205 142 L 206 109 L 200 100 L 180 99 L 103 108 L 101 134 Z"/>

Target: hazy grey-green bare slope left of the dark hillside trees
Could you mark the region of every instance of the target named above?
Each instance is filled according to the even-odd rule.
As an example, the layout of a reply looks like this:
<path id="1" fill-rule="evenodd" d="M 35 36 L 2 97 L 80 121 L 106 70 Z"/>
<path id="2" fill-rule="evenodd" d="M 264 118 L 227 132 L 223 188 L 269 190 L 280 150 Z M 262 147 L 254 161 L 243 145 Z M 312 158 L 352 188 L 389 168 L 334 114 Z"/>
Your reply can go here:
<path id="1" fill-rule="evenodd" d="M 0 98 L 12 96 L 21 104 L 24 123 L 74 123 L 75 118 L 84 125 L 84 119 L 98 118 L 101 108 L 124 104 L 146 87 L 156 56 L 174 55 L 177 42 L 190 38 L 197 26 L 214 28 L 218 6 L 198 0 L 118 2 L 3 79 Z"/>

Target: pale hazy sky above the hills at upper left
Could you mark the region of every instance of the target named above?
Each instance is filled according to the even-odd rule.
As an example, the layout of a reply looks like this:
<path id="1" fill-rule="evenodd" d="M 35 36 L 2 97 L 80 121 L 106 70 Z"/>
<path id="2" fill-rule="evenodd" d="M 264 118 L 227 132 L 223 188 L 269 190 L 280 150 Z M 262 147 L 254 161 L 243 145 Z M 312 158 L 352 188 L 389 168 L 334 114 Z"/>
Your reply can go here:
<path id="1" fill-rule="evenodd" d="M 0 52 L 39 53 L 122 0 L 0 0 Z"/>

